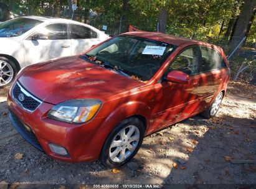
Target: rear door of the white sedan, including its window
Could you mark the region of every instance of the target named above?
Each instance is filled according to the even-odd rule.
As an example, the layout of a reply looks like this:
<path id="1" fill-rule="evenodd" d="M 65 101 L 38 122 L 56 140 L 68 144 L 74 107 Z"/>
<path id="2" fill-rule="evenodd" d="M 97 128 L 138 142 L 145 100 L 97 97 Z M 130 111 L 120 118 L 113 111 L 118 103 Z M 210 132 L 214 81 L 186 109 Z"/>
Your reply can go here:
<path id="1" fill-rule="evenodd" d="M 102 39 L 98 36 L 99 34 L 88 27 L 78 24 L 69 24 L 69 26 L 72 55 L 80 54 L 92 45 L 102 42 Z"/>

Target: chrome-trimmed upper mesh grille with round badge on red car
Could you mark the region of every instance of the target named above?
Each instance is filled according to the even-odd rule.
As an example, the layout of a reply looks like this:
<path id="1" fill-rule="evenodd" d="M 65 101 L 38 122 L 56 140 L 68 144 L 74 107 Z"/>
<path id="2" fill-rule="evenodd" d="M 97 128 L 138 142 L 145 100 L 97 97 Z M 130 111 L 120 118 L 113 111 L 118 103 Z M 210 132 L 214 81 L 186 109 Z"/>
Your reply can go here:
<path id="1" fill-rule="evenodd" d="M 27 92 L 18 82 L 12 89 L 12 98 L 16 103 L 21 106 L 22 109 L 32 112 L 42 103 L 40 99 L 37 99 L 32 94 Z"/>

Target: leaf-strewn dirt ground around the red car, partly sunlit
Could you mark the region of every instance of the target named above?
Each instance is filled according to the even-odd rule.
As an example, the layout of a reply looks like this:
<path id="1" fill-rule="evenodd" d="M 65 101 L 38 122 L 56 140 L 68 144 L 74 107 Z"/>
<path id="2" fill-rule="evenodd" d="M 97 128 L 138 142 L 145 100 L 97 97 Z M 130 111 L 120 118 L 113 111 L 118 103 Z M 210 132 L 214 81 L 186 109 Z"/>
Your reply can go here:
<path id="1" fill-rule="evenodd" d="M 117 174 L 98 161 L 68 164 L 34 149 L 9 120 L 6 91 L 0 90 L 1 183 L 256 184 L 256 86 L 231 82 L 216 118 L 194 116 L 146 137 Z"/>

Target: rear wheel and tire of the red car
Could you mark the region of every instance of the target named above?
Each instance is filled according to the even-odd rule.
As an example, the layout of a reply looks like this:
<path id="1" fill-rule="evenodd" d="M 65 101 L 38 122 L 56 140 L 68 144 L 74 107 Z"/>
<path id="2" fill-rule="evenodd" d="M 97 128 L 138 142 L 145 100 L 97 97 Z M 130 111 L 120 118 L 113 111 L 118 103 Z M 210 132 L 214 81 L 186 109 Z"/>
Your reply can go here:
<path id="1" fill-rule="evenodd" d="M 207 119 L 210 119 L 210 118 L 214 117 L 216 115 L 217 111 L 219 110 L 222 99 L 223 99 L 223 93 L 220 92 L 216 96 L 214 101 L 212 102 L 211 106 L 209 106 L 205 111 L 203 111 L 201 113 L 201 115 L 204 116 L 204 118 L 207 118 Z"/>

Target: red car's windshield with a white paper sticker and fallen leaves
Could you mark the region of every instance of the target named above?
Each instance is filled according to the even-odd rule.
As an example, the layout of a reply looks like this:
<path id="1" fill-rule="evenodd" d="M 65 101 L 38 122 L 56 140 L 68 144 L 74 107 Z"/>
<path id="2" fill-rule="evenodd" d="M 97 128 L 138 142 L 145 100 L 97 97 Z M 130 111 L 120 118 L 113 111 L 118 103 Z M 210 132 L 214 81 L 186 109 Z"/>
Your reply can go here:
<path id="1" fill-rule="evenodd" d="M 146 83 L 173 50 L 174 45 L 157 40 L 120 35 L 93 48 L 86 55 L 90 60 L 107 63 L 131 78 Z"/>

